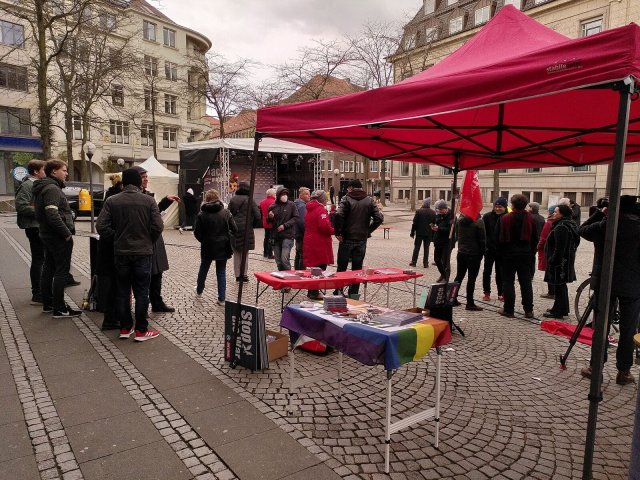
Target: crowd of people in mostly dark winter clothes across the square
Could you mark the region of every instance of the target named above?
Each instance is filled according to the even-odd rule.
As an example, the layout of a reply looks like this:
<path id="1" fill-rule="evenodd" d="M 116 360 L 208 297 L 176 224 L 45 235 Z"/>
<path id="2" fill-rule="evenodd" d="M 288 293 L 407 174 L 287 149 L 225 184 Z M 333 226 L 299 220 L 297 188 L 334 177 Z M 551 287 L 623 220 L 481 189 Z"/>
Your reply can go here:
<path id="1" fill-rule="evenodd" d="M 51 312 L 54 318 L 78 316 L 81 312 L 64 301 L 64 288 L 70 282 L 77 284 L 69 272 L 75 227 L 62 191 L 67 164 L 60 160 L 32 160 L 27 170 L 28 177 L 16 193 L 16 210 L 18 226 L 25 230 L 31 249 L 32 303 L 41 304 L 43 311 Z M 154 312 L 174 311 L 164 302 L 161 292 L 162 274 L 169 268 L 161 212 L 181 199 L 168 195 L 156 203 L 153 194 L 147 191 L 147 172 L 139 166 L 112 176 L 111 181 L 96 223 L 100 234 L 98 270 L 107 280 L 102 294 L 113 298 L 112 302 L 106 302 L 103 328 L 118 328 L 123 339 L 133 335 L 135 340 L 145 341 L 159 334 L 148 326 L 149 304 Z M 260 205 L 250 198 L 247 182 L 239 182 L 228 206 L 216 190 L 204 192 L 199 208 L 192 191 L 185 196 L 189 208 L 182 227 L 192 226 L 201 244 L 195 294 L 202 297 L 211 264 L 215 262 L 219 305 L 224 305 L 226 299 L 229 259 L 233 257 L 236 281 L 249 281 L 247 262 L 242 257 L 245 250 L 255 249 L 254 228 L 264 228 L 263 256 L 274 259 L 278 270 L 292 269 L 291 253 L 295 247 L 294 269 L 324 270 L 337 264 L 340 272 L 347 270 L 349 264 L 353 270 L 363 268 L 367 240 L 384 220 L 377 202 L 362 189 L 359 180 L 347 184 L 337 209 L 333 204 L 327 208 L 330 198 L 325 191 L 311 192 L 306 187 L 298 190 L 295 200 L 283 186 L 270 188 Z M 437 200 L 431 209 L 431 199 L 427 198 L 416 211 L 411 226 L 414 248 L 409 265 L 417 266 L 422 249 L 422 265 L 429 268 L 433 243 L 433 264 L 439 272 L 437 282 L 448 280 L 451 250 L 457 243 L 454 281 L 461 283 L 467 279 L 466 309 L 482 310 L 474 300 L 474 292 L 484 261 L 482 299 L 491 300 L 494 280 L 498 300 L 503 302 L 499 314 L 509 318 L 515 312 L 516 279 L 525 317 L 534 317 L 532 281 L 537 266 L 537 270 L 544 272 L 547 284 L 547 291 L 541 296 L 553 299 L 552 307 L 543 316 L 562 319 L 570 313 L 568 284 L 576 281 L 575 259 L 581 238 L 595 245 L 592 280 L 593 288 L 597 288 L 607 208 L 608 200 L 600 199 L 593 214 L 580 225 L 580 206 L 568 198 L 550 206 L 546 219 L 539 213 L 540 205 L 529 202 L 522 194 L 513 195 L 510 202 L 504 197 L 497 198 L 490 212 L 476 218 L 462 213 L 456 217 L 443 199 Z M 612 304 L 617 305 L 620 315 L 617 382 L 626 384 L 633 381 L 629 372 L 633 361 L 632 338 L 640 315 L 640 244 L 635 241 L 640 234 L 640 215 L 636 197 L 622 197 L 620 211 L 618 241 L 624 248 L 616 250 Z M 247 218 L 251 219 L 250 224 Z M 333 237 L 339 242 L 337 258 Z M 351 285 L 348 295 L 357 298 L 358 288 Z M 135 304 L 133 316 L 131 292 Z M 318 290 L 310 290 L 307 295 L 313 300 L 322 299 Z M 455 299 L 454 305 L 460 302 Z M 582 374 L 590 376 L 590 368 Z"/>

